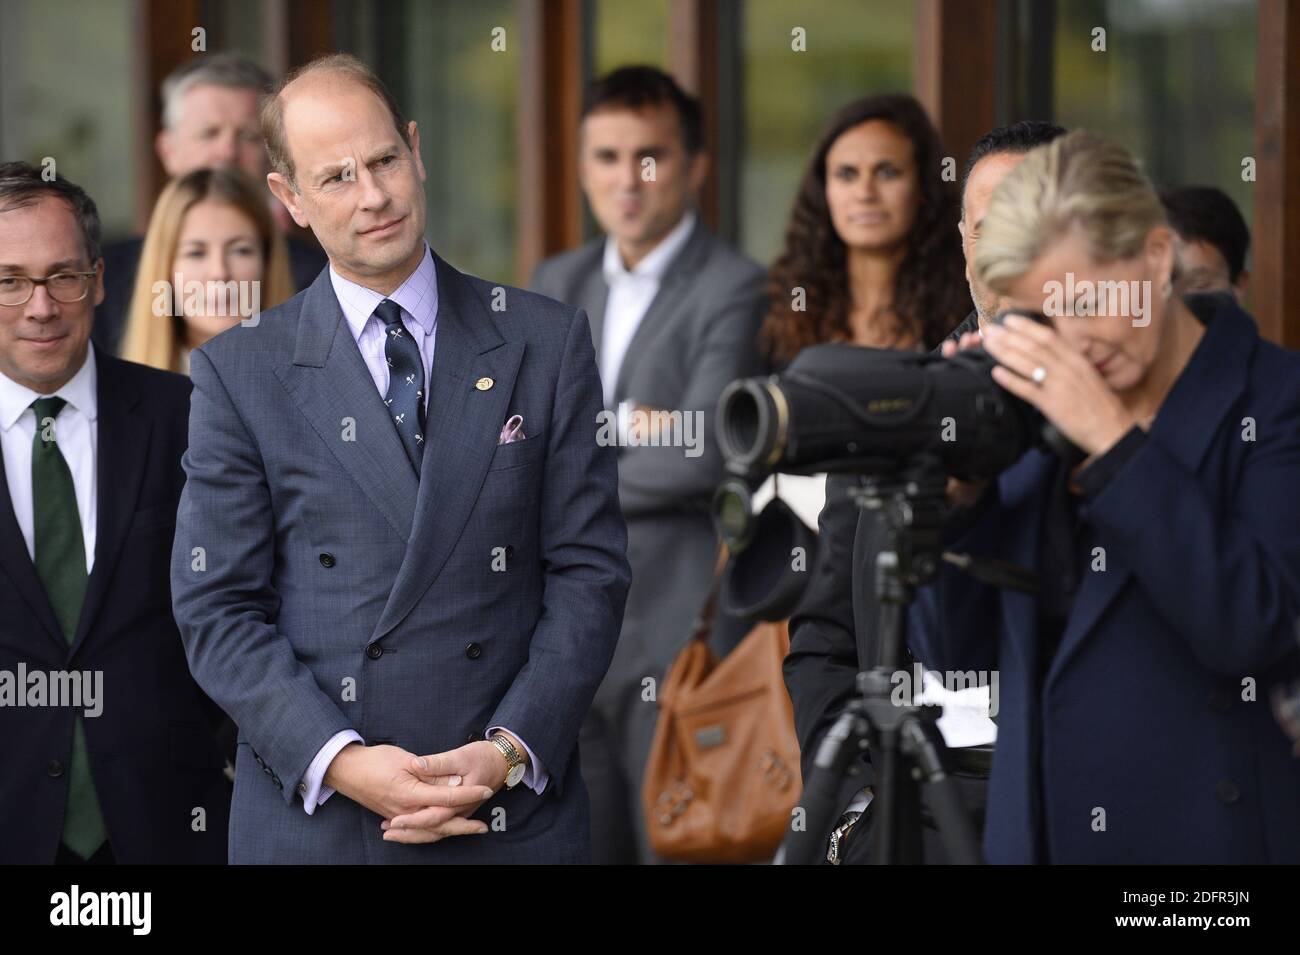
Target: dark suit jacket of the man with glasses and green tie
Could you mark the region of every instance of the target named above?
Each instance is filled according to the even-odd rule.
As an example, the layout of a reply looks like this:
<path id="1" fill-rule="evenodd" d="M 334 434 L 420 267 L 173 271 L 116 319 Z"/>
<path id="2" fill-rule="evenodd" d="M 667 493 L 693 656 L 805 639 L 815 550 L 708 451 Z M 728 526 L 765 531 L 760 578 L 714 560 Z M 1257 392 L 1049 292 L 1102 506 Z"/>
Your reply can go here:
<path id="1" fill-rule="evenodd" d="M 103 673 L 103 712 L 83 724 L 117 861 L 221 863 L 230 783 L 211 729 L 220 713 L 190 677 L 168 585 L 190 382 L 95 357 L 95 567 L 81 622 L 69 647 L 0 492 L 0 669 Z M 55 860 L 77 712 L 0 708 L 0 863 Z M 194 828 L 196 808 L 205 830 Z"/>

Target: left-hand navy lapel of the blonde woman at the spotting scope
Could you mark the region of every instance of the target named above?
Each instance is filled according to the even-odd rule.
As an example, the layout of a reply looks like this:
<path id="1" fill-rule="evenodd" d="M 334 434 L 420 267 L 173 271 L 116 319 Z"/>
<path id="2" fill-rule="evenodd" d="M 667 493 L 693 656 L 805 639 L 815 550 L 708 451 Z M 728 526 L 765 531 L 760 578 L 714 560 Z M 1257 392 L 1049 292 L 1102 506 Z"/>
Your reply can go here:
<path id="1" fill-rule="evenodd" d="M 1004 560 L 1024 568 L 1039 565 L 1039 528 L 1054 466 L 1056 457 L 1035 448 L 998 478 L 1002 507 L 1023 515 L 1020 520 L 1005 525 L 1000 544 Z M 1039 659 L 1039 599 L 1010 587 L 1001 587 L 998 594 L 1011 647 L 1019 654 L 1026 670 L 1035 673 Z"/>

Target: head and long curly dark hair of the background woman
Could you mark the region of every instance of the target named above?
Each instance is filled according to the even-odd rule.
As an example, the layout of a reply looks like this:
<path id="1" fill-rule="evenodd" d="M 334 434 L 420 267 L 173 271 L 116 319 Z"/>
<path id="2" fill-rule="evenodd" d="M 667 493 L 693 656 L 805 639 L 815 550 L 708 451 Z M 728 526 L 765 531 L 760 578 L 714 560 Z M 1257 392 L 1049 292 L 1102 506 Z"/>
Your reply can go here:
<path id="1" fill-rule="evenodd" d="M 926 110 L 890 94 L 850 103 L 800 183 L 763 326 L 784 366 L 822 342 L 933 348 L 970 311 L 958 200 Z"/>

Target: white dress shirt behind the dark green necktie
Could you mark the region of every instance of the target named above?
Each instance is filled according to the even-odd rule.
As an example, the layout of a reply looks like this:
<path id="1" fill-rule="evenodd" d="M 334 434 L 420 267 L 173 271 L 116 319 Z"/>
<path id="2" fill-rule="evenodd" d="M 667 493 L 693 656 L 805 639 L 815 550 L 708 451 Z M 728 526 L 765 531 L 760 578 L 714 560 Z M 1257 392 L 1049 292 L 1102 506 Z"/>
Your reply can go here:
<path id="1" fill-rule="evenodd" d="M 95 512 L 99 403 L 96 400 L 95 350 L 86 348 L 86 361 L 77 374 L 55 391 L 42 395 L 0 374 L 0 446 L 4 448 L 4 473 L 9 485 L 9 502 L 18 530 L 27 542 L 27 554 L 36 559 L 36 531 L 32 515 L 31 444 L 36 437 L 36 412 L 31 403 L 38 398 L 62 398 L 68 404 L 55 418 L 55 443 L 68 470 L 73 474 L 77 494 L 77 516 L 86 542 L 86 573 L 95 567 Z"/>

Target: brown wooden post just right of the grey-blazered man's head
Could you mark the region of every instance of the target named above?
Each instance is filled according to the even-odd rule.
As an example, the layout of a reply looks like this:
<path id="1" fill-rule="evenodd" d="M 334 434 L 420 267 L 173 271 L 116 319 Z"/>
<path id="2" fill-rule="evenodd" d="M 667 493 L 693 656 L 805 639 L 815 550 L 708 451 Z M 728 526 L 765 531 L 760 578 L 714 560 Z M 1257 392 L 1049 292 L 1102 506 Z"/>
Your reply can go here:
<path id="1" fill-rule="evenodd" d="M 668 8 L 668 71 L 699 99 L 705 122 L 708 175 L 699 194 L 705 223 L 719 230 L 718 172 L 718 8 L 715 0 L 672 0 Z"/>

